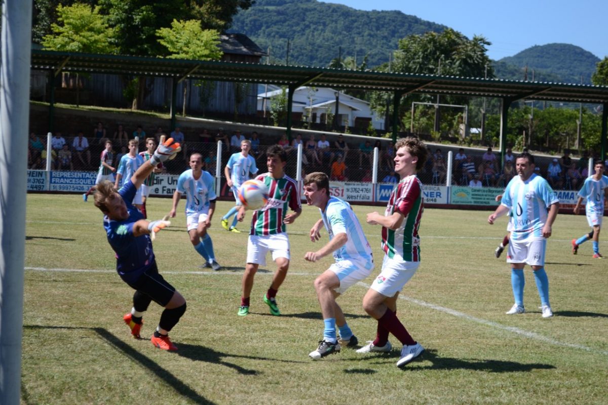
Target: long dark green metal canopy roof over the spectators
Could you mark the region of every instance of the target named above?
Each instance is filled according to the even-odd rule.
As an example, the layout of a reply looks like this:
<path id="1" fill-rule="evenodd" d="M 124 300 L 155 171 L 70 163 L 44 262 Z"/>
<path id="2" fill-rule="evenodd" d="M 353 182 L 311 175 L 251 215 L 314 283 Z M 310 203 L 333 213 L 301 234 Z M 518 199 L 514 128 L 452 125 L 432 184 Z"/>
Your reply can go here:
<path id="1" fill-rule="evenodd" d="M 511 102 L 551 100 L 570 103 L 603 104 L 602 155 L 606 145 L 608 127 L 608 87 L 585 84 L 544 83 L 516 80 L 462 78 L 452 76 L 387 73 L 326 67 L 282 66 L 222 61 L 195 61 L 141 56 L 95 55 L 67 53 L 49 50 L 32 50 L 31 67 L 60 72 L 109 73 L 176 79 L 174 86 L 184 79 L 232 81 L 241 83 L 268 83 L 287 86 L 295 90 L 299 86 L 338 87 L 340 89 L 380 90 L 393 92 L 395 103 L 404 95 L 454 95 L 464 97 L 496 97 L 503 100 L 501 112 L 506 128 L 506 115 Z M 292 91 L 288 106 L 291 109 Z M 172 103 L 173 104 L 173 103 Z M 172 109 L 174 111 L 175 109 Z M 291 114 L 288 114 L 291 117 Z M 396 122 L 396 120 L 393 120 Z M 288 123 L 288 131 L 291 123 Z M 396 128 L 393 128 L 396 134 Z M 501 130 L 503 132 L 503 130 Z M 501 140 L 506 139 L 504 133 Z M 502 148 L 505 149 L 504 142 Z M 504 151 L 503 151 L 504 152 Z"/>

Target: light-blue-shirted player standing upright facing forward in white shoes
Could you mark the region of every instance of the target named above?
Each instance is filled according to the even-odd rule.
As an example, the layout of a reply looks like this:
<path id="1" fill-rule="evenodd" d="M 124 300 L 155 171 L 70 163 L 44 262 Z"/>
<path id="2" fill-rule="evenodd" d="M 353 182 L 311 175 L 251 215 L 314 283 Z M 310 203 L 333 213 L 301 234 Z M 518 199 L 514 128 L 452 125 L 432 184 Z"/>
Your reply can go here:
<path id="1" fill-rule="evenodd" d="M 549 303 L 549 281 L 545 272 L 545 250 L 551 226 L 558 215 L 559 200 L 547 180 L 534 173 L 534 157 L 523 152 L 516 159 L 517 176 L 506 185 L 502 202 L 488 217 L 492 225 L 506 213 L 511 216 L 511 243 L 506 261 L 511 264 L 511 287 L 515 304 L 507 315 L 525 312 L 523 307 L 523 267 L 534 271 L 534 280 L 541 297 L 543 318 L 553 316 Z"/>

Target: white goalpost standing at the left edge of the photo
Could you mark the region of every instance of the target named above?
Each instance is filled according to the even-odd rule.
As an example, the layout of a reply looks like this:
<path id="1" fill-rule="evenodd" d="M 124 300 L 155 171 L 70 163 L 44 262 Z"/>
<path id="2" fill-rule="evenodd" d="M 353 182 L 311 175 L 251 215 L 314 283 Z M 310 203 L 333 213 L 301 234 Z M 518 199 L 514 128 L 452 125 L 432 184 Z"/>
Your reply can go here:
<path id="1" fill-rule="evenodd" d="M 21 392 L 32 1 L 2 2 L 0 38 L 0 404 Z"/>

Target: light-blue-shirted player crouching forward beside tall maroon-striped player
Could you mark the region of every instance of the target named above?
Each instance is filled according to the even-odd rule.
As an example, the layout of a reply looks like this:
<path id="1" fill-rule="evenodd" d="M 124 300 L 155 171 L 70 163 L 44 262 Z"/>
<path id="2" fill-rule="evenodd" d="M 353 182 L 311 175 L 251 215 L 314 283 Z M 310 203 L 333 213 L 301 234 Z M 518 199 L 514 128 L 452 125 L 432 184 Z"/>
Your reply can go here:
<path id="1" fill-rule="evenodd" d="M 350 204 L 330 196 L 330 180 L 322 172 L 306 175 L 304 196 L 308 205 L 319 208 L 321 219 L 310 230 L 310 239 L 320 239 L 320 230 L 325 230 L 330 240 L 319 250 L 306 252 L 304 259 L 316 262 L 333 253 L 336 262 L 314 281 L 314 289 L 321 304 L 323 314 L 323 339 L 319 347 L 309 354 L 314 360 L 340 351 L 340 344 L 357 345 L 358 339 L 348 327 L 342 308 L 336 298 L 348 287 L 369 276 L 374 268 L 371 247 L 361 228 L 361 223 Z M 337 339 L 336 325 L 340 331 Z"/>

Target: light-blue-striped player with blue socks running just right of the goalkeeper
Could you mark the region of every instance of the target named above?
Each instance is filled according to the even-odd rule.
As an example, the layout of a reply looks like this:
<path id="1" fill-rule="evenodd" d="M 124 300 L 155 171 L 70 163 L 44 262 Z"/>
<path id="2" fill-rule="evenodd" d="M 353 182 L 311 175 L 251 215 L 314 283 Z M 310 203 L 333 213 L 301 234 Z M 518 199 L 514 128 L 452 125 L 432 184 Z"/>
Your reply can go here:
<path id="1" fill-rule="evenodd" d="M 173 193 L 173 207 L 169 213 L 175 217 L 182 194 L 186 195 L 186 229 L 194 250 L 205 259 L 202 267 L 219 270 L 221 266 L 215 260 L 213 242 L 208 228 L 211 226 L 215 211 L 215 188 L 213 177 L 202 169 L 202 155 L 198 152 L 190 155 L 190 169 L 179 175 L 178 187 Z"/>

